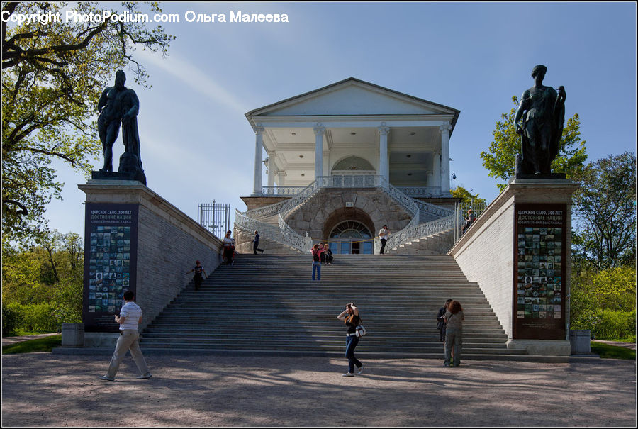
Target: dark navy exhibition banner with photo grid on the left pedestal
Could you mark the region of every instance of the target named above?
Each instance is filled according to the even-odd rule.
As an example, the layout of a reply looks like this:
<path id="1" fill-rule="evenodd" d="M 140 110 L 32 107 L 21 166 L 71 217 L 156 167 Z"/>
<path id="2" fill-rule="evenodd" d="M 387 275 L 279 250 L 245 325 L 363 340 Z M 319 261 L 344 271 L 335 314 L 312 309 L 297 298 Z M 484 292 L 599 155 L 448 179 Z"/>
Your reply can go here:
<path id="1" fill-rule="evenodd" d="M 113 314 L 135 293 L 138 205 L 86 203 L 84 225 L 84 330 L 118 332 Z"/>

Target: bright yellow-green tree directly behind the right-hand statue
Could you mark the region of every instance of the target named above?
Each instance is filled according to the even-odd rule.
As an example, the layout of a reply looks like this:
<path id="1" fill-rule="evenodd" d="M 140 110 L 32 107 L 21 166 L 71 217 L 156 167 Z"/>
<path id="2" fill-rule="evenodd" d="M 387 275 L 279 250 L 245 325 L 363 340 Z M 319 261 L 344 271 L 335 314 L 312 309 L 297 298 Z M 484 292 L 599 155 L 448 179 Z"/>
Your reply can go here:
<path id="1" fill-rule="evenodd" d="M 490 145 L 489 152 L 481 152 L 483 167 L 489 171 L 489 176 L 496 179 L 502 179 L 508 182 L 508 179 L 514 175 L 514 165 L 516 154 L 520 153 L 520 135 L 516 133 L 514 126 L 514 116 L 518 107 L 518 98 L 512 97 L 514 108 L 510 113 L 503 113 L 501 119 L 503 121 L 496 122 L 496 130 L 492 135 L 494 140 Z M 581 140 L 581 122 L 578 114 L 574 114 L 569 118 L 563 127 L 563 137 L 561 138 L 561 147 L 559 155 L 552 162 L 552 172 L 565 173 L 568 178 L 578 177 L 587 160 L 585 153 L 585 140 Z M 502 191 L 506 184 L 497 184 Z"/>

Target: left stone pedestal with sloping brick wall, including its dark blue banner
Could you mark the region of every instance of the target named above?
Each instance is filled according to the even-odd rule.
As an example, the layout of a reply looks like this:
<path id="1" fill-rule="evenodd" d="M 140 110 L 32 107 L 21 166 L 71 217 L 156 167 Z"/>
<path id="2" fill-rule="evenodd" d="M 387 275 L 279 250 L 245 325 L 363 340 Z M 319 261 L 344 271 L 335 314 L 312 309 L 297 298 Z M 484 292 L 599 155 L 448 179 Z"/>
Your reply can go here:
<path id="1" fill-rule="evenodd" d="M 78 187 L 86 193 L 83 318 L 87 347 L 102 344 L 104 338 L 110 342 L 111 335 L 103 333 L 118 335 L 113 313 L 119 313 L 123 290 L 135 293 L 135 302 L 142 308 L 142 330 L 191 283 L 193 274 L 186 272 L 196 260 L 207 273 L 218 267 L 221 241 L 144 184 L 89 180 Z M 125 221 L 128 226 L 118 226 Z M 91 325 L 96 318 L 99 323 Z"/>

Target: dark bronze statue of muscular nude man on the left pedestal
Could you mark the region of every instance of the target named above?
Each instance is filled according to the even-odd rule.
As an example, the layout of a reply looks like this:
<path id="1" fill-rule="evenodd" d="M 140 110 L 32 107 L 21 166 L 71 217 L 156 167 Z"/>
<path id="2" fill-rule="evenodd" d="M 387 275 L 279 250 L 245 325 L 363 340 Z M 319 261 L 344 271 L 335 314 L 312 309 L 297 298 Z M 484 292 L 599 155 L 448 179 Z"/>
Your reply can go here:
<path id="1" fill-rule="evenodd" d="M 118 172 L 128 173 L 146 184 L 138 133 L 140 101 L 133 89 L 124 86 L 125 82 L 126 75 L 118 70 L 115 86 L 106 88 L 98 102 L 98 133 L 104 152 L 104 166 L 100 172 L 113 172 L 113 144 L 118 138 L 121 123 L 124 153 L 120 157 Z"/>

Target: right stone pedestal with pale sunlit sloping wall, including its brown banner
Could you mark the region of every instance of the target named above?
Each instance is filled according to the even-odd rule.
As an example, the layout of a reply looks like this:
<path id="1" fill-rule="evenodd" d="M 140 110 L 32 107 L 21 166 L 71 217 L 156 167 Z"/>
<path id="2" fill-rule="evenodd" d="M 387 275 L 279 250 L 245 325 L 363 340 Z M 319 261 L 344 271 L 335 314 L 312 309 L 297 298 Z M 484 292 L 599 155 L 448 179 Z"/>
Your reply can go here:
<path id="1" fill-rule="evenodd" d="M 481 286 L 510 348 L 534 355 L 571 352 L 571 195 L 576 189 L 578 184 L 568 179 L 513 179 L 449 251 L 467 279 Z"/>

